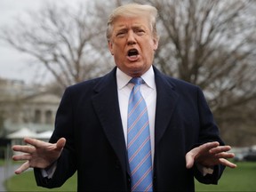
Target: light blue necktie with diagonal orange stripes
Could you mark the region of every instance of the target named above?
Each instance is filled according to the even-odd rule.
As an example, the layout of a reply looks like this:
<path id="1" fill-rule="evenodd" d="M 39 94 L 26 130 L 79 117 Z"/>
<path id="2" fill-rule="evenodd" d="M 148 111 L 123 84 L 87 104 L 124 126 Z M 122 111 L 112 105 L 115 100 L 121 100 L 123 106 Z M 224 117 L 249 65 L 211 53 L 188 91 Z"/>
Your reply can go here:
<path id="1" fill-rule="evenodd" d="M 152 158 L 148 124 L 148 111 L 140 93 L 140 77 L 132 78 L 134 84 L 128 105 L 128 157 L 132 178 L 132 191 L 153 191 Z"/>

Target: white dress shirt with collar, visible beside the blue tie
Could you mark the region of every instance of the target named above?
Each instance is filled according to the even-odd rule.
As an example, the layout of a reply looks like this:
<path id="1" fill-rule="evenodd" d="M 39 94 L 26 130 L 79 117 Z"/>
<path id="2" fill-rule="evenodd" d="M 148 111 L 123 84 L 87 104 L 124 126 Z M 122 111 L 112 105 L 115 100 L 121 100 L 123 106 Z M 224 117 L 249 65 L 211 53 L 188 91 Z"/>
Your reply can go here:
<path id="1" fill-rule="evenodd" d="M 148 71 L 141 76 L 145 84 L 140 85 L 140 92 L 144 98 L 148 108 L 148 120 L 149 120 L 149 132 L 151 141 L 151 154 L 152 162 L 155 152 L 155 116 L 156 116 L 156 83 L 154 70 L 152 66 Z M 132 92 L 133 84 L 129 84 L 132 79 L 131 76 L 127 76 L 119 68 L 116 69 L 116 83 L 118 92 L 119 108 L 121 113 L 121 119 L 124 129 L 124 139 L 127 146 L 127 114 L 128 114 L 128 101 L 130 93 Z"/>

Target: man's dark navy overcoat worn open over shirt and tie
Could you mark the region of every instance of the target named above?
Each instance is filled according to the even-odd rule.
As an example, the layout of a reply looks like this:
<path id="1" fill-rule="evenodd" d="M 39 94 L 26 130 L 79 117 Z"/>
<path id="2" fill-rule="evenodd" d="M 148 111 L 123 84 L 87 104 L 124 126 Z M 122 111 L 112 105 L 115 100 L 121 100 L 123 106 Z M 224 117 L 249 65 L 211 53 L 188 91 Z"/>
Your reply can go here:
<path id="1" fill-rule="evenodd" d="M 194 177 L 217 184 L 224 167 L 203 176 L 186 168 L 186 153 L 220 140 L 203 92 L 195 85 L 164 76 L 155 67 L 155 191 L 194 191 Z M 116 68 L 106 76 L 68 87 L 60 102 L 50 142 L 64 137 L 65 148 L 52 179 L 35 169 L 38 186 L 60 187 L 77 171 L 78 191 L 130 191 L 131 180 L 120 117 Z"/>

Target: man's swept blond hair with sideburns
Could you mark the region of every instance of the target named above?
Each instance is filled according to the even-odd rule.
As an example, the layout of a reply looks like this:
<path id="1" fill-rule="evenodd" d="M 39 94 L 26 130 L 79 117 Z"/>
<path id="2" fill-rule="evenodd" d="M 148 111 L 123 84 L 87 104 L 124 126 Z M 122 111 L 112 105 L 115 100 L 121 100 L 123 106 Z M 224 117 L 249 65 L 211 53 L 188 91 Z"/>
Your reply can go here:
<path id="1" fill-rule="evenodd" d="M 124 4 L 117 7 L 108 17 L 108 28 L 107 28 L 107 40 L 109 42 L 113 32 L 113 22 L 118 17 L 134 18 L 138 16 L 148 17 L 148 24 L 154 38 L 158 39 L 156 32 L 156 18 L 157 10 L 156 7 L 148 4 Z"/>

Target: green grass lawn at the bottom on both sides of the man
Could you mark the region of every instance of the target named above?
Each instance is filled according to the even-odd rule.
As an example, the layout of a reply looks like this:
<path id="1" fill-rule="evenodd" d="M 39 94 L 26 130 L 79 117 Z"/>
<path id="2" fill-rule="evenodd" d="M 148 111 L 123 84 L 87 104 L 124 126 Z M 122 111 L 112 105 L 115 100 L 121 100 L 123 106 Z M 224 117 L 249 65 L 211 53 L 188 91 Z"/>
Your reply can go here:
<path id="1" fill-rule="evenodd" d="M 256 163 L 238 163 L 236 169 L 226 168 L 219 185 L 204 185 L 196 181 L 196 191 L 256 191 Z M 46 189 L 36 187 L 33 172 L 13 176 L 4 185 L 8 191 L 76 191 L 76 175 L 61 188 Z"/>

